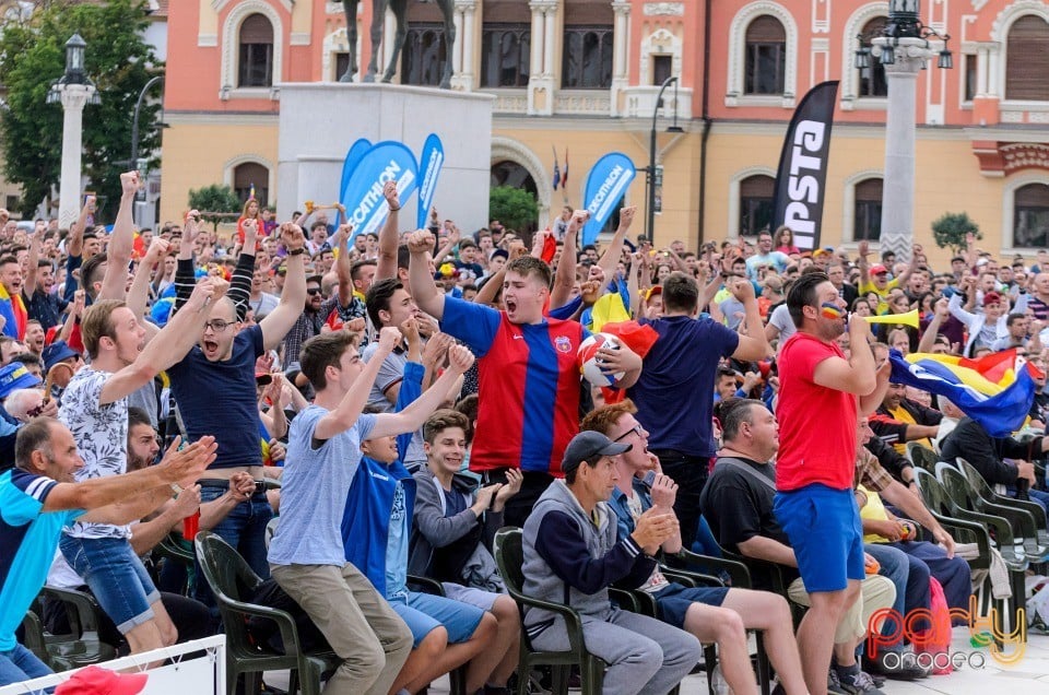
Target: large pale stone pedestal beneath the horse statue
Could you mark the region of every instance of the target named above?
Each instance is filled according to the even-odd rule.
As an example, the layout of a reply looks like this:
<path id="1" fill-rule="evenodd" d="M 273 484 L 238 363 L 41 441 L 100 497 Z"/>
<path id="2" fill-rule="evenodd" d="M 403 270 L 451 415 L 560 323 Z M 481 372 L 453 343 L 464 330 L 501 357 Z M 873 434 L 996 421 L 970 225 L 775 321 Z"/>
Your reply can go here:
<path id="1" fill-rule="evenodd" d="M 394 140 L 415 157 L 434 132 L 445 164 L 434 204 L 464 234 L 488 223 L 492 170 L 492 104 L 486 94 L 396 84 L 284 83 L 278 141 L 276 204 L 281 220 L 306 200 L 339 199 L 342 163 L 358 138 Z M 402 200 L 402 231 L 415 226 L 417 196 Z M 334 221 L 334 214 L 329 213 Z"/>

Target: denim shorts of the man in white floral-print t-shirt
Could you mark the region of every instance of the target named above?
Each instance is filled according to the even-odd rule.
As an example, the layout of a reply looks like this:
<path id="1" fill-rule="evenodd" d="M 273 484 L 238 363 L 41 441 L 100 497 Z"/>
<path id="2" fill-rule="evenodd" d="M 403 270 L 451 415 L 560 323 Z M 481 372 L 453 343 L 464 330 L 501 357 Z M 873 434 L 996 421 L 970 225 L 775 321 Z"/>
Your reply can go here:
<path id="1" fill-rule="evenodd" d="M 62 535 L 59 547 L 121 635 L 153 620 L 150 606 L 161 600 L 161 592 L 153 586 L 130 542 L 118 538 Z"/>

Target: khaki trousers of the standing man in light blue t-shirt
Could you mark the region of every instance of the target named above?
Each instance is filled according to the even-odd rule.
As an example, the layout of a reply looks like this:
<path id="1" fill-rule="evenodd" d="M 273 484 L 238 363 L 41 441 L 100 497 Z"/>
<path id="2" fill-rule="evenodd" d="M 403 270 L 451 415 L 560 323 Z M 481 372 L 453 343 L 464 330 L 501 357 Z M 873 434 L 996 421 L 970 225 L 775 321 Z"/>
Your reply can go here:
<path id="1" fill-rule="evenodd" d="M 270 572 L 343 660 L 325 695 L 387 695 L 412 652 L 412 633 L 368 578 L 350 563 Z"/>

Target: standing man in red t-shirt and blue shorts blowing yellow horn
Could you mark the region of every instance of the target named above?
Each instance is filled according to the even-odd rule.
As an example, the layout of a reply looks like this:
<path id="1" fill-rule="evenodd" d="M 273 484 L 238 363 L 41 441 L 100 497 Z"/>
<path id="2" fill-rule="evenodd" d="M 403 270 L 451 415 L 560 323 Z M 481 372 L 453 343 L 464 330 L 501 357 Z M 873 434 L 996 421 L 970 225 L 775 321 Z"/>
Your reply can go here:
<path id="1" fill-rule="evenodd" d="M 888 363 L 875 368 L 871 328 L 863 320 L 849 323 L 846 360 L 836 342 L 846 331 L 845 301 L 826 274 L 799 278 L 787 306 L 798 332 L 779 353 L 775 511 L 812 601 L 798 628 L 805 682 L 810 692 L 825 693 L 834 647 L 828 626 L 838 625 L 867 576 L 852 497 L 856 426 L 882 402 Z"/>

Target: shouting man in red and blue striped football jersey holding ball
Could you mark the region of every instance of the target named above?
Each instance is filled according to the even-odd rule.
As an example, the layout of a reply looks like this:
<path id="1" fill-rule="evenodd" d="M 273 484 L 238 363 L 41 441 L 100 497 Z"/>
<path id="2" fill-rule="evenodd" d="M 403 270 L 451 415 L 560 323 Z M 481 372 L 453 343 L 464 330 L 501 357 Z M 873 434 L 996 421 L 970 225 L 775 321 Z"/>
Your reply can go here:
<path id="1" fill-rule="evenodd" d="M 427 264 L 434 247 L 432 234 L 416 232 L 408 246 L 416 305 L 478 357 L 478 427 L 470 470 L 490 484 L 506 482 L 506 469 L 520 469 L 524 482 L 507 503 L 504 518 L 509 526 L 523 526 L 546 486 L 562 478 L 565 447 L 579 432 L 576 352 L 590 333 L 577 321 L 545 316 L 551 269 L 538 258 L 524 256 L 507 264 L 504 310 L 499 311 L 449 297 L 437 288 Z M 624 373 L 616 382 L 618 388 L 637 381 L 641 358 L 625 345 L 602 349 L 598 354 L 609 374 Z"/>

